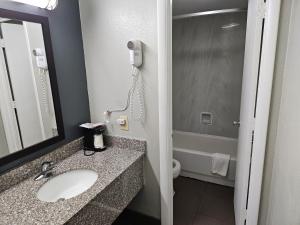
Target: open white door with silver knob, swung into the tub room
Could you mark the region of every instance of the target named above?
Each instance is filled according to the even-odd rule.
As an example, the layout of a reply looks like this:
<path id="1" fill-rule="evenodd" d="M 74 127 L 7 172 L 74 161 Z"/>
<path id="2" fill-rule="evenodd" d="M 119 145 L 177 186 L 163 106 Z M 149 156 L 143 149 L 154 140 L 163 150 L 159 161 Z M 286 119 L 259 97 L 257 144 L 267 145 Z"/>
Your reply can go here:
<path id="1" fill-rule="evenodd" d="M 258 1 L 249 1 L 244 72 L 242 83 L 240 128 L 237 151 L 237 167 L 234 192 L 236 225 L 244 225 L 248 198 L 254 111 L 261 45 L 262 19 L 253 17 Z"/>

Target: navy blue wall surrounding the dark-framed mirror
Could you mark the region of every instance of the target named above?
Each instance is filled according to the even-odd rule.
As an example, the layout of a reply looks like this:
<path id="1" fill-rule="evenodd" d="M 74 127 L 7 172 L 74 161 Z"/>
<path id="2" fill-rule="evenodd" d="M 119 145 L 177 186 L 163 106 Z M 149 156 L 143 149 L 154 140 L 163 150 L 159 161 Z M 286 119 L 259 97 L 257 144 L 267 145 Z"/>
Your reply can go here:
<path id="1" fill-rule="evenodd" d="M 49 18 L 66 137 L 64 141 L 41 149 L 38 153 L 10 165 L 0 165 L 0 171 L 3 171 L 80 137 L 82 134 L 78 129 L 78 124 L 90 121 L 90 112 L 78 1 L 59 1 L 57 8 L 53 11 L 14 2 L 0 2 L 0 8 Z"/>

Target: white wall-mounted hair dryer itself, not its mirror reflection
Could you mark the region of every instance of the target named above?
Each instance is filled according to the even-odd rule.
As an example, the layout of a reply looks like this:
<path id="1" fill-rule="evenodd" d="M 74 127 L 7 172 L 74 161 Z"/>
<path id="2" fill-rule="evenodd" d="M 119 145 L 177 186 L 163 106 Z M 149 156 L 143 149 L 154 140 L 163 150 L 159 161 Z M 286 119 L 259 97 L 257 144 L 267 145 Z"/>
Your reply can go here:
<path id="1" fill-rule="evenodd" d="M 138 40 L 128 41 L 130 64 L 135 67 L 140 67 L 143 64 L 143 49 L 142 42 Z"/>

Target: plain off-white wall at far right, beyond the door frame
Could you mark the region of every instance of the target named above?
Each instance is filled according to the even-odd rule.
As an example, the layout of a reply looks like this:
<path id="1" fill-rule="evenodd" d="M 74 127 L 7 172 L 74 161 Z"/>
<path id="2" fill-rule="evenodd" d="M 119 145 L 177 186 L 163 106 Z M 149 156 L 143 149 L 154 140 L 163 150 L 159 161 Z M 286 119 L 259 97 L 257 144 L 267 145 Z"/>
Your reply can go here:
<path id="1" fill-rule="evenodd" d="M 290 4 L 292 3 L 292 4 Z M 275 138 L 269 203 L 264 225 L 300 224 L 300 2 L 291 8 L 287 51 L 282 71 L 282 88 Z M 289 11 L 287 11 L 289 12 Z M 275 80 L 276 81 L 276 80 Z M 263 224 L 263 223 L 261 223 Z"/>

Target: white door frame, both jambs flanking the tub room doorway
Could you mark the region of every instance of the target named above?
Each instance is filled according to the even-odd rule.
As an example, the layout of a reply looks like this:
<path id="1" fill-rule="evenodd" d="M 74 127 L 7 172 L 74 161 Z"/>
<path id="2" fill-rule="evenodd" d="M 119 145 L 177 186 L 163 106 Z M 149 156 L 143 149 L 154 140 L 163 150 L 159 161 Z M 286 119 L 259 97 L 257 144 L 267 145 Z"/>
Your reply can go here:
<path id="1" fill-rule="evenodd" d="M 264 3 L 264 0 L 260 1 L 257 0 L 257 4 Z M 258 221 L 280 1 L 267 0 L 263 10 L 263 13 L 265 13 L 265 26 L 260 58 L 260 80 L 257 85 L 256 119 L 254 121 L 256 138 L 253 141 L 247 225 L 257 225 Z M 260 8 L 260 6 L 257 8 Z M 256 17 L 260 13 L 262 12 L 255 12 L 250 16 Z M 161 224 L 172 225 L 172 0 L 157 0 L 157 32 Z M 257 51 L 260 51 L 260 49 L 257 49 Z M 256 76 L 253 77 L 256 79 Z"/>

